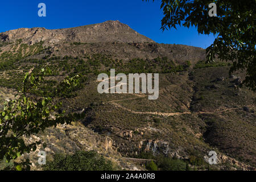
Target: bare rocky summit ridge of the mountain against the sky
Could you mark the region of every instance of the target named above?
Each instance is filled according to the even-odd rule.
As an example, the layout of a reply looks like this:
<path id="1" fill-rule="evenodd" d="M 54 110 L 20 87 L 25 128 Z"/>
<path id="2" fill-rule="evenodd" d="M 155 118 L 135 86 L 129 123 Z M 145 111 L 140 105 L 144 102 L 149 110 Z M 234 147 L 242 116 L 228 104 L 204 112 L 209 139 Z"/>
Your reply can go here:
<path id="1" fill-rule="evenodd" d="M 122 42 L 122 43 L 153 43 L 154 40 L 131 29 L 127 24 L 118 20 L 108 20 L 103 23 L 90 24 L 81 27 L 48 30 L 46 28 L 19 28 L 2 32 L 0 42 L 15 42 L 34 44 L 44 41 L 49 44 L 59 42 Z"/>

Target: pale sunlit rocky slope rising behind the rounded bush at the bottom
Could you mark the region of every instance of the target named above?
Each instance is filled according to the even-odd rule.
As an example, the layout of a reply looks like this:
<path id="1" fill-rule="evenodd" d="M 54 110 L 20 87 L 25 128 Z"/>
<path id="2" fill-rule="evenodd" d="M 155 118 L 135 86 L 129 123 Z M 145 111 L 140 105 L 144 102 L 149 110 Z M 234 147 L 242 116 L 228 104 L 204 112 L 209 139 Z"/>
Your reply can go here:
<path id="1" fill-rule="evenodd" d="M 58 125 L 56 128 L 48 128 L 44 133 L 38 135 L 31 135 L 24 137 L 26 143 L 35 141 L 42 141 L 47 143 L 47 147 L 43 148 L 39 144 L 36 151 L 31 151 L 30 154 L 24 154 L 16 159 L 20 162 L 23 159 L 29 158 L 31 160 L 32 170 L 42 170 L 42 166 L 38 164 L 38 152 L 45 151 L 48 160 L 52 160 L 55 154 L 73 154 L 78 150 L 97 151 L 106 159 L 111 160 L 122 170 L 142 170 L 144 169 L 137 162 L 127 161 L 122 158 L 121 154 L 117 152 L 115 142 L 112 138 L 94 133 L 83 126 L 73 125 Z"/>

